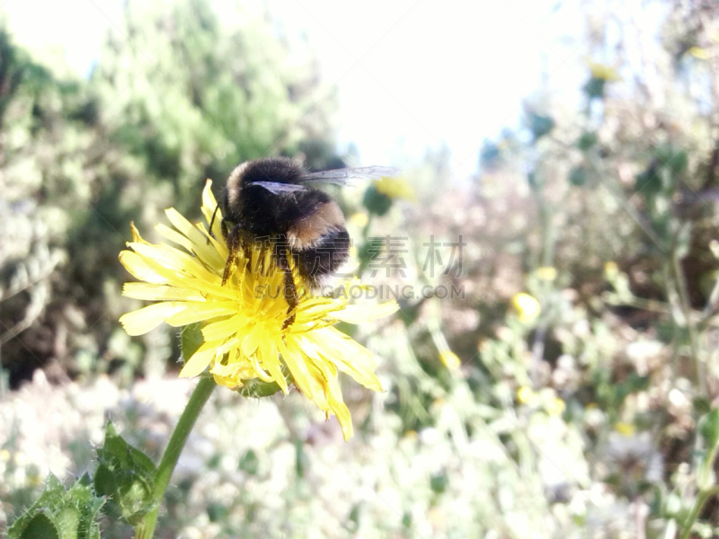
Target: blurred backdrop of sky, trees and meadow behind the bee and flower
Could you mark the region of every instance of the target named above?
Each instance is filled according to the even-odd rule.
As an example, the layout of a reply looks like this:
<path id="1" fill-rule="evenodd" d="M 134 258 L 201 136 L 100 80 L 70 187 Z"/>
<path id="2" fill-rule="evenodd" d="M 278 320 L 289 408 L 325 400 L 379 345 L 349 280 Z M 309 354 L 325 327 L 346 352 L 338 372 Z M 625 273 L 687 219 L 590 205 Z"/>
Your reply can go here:
<path id="1" fill-rule="evenodd" d="M 342 381 L 350 443 L 217 391 L 158 537 L 682 532 L 719 438 L 714 0 L 3 0 L 0 536 L 106 420 L 161 454 L 193 383 L 177 331 L 121 330 L 118 252 L 265 155 L 399 167 L 333 195 L 415 296 L 347 328 L 386 388 Z"/>

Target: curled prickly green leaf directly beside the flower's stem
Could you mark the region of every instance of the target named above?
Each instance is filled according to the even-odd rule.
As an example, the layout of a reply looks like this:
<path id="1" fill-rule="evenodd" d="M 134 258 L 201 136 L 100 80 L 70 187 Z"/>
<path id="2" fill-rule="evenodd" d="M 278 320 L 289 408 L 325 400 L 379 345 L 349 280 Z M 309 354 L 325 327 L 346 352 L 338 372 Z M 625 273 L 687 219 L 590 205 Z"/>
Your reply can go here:
<path id="1" fill-rule="evenodd" d="M 105 429 L 104 445 L 97 450 L 100 464 L 94 487 L 107 496 L 105 511 L 136 525 L 156 506 L 155 464 L 137 448 L 130 446 L 111 423 Z"/>

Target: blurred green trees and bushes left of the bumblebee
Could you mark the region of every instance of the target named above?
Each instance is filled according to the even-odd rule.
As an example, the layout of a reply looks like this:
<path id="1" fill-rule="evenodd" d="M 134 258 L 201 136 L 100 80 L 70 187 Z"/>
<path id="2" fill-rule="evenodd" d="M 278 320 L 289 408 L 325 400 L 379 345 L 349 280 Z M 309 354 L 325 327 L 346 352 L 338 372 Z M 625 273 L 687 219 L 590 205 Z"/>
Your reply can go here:
<path id="1" fill-rule="evenodd" d="M 206 7 L 128 4 L 126 39 L 108 38 L 87 81 L 34 63 L 2 34 L 0 340 L 11 384 L 48 364 L 55 376 L 120 369 L 128 381 L 171 356 L 167 331 L 143 351 L 116 323 L 130 220 L 149 228 L 170 206 L 197 216 L 202 179 L 246 159 L 342 164 L 332 95 L 313 106 L 328 89 L 312 51 L 290 51 L 267 21 L 223 25 Z"/>

